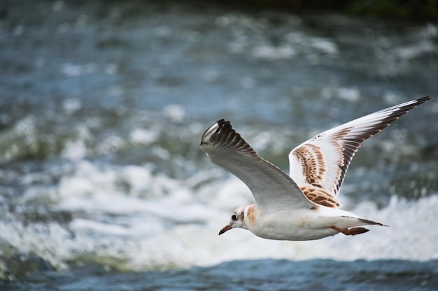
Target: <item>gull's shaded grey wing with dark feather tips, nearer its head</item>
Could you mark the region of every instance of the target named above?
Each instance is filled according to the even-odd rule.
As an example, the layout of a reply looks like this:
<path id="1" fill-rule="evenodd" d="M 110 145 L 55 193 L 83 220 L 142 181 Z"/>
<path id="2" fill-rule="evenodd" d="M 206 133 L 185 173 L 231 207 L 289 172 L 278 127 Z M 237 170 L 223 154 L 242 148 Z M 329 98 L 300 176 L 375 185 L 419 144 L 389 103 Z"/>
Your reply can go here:
<path id="1" fill-rule="evenodd" d="M 201 149 L 213 163 L 241 179 L 263 211 L 316 207 L 288 174 L 261 158 L 229 121 L 221 119 L 210 126 L 202 135 Z"/>

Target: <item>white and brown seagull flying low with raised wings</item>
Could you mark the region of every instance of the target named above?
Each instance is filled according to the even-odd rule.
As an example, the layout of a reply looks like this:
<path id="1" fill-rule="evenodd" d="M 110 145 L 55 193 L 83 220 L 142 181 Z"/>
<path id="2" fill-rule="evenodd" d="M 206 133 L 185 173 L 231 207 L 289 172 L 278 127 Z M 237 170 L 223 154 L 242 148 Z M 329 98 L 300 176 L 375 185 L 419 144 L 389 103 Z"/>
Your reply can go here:
<path id="1" fill-rule="evenodd" d="M 299 144 L 289 153 L 289 175 L 259 156 L 229 121 L 220 119 L 202 135 L 201 149 L 248 186 L 255 204 L 234 210 L 219 234 L 239 227 L 265 239 L 306 241 L 340 232 L 362 234 L 369 231 L 363 225 L 383 225 L 340 209 L 339 189 L 362 142 L 430 98 L 368 114 Z"/>

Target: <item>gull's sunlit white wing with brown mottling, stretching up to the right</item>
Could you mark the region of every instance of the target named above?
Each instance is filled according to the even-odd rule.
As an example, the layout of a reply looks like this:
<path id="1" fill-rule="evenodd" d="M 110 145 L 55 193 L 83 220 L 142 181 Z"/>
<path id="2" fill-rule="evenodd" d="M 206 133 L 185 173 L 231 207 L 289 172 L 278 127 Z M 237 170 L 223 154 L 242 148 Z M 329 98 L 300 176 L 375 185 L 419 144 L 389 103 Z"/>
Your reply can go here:
<path id="1" fill-rule="evenodd" d="M 290 177 L 313 202 L 341 207 L 337 194 L 360 144 L 429 99 L 427 96 L 368 114 L 303 142 L 290 151 Z M 307 193 L 312 193 L 320 201 Z"/>

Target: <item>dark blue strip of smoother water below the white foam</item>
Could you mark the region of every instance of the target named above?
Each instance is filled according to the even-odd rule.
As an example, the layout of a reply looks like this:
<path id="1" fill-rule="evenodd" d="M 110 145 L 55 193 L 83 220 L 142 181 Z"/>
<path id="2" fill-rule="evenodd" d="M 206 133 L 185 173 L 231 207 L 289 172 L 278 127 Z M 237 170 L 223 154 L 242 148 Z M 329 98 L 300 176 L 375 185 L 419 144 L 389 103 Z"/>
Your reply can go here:
<path id="1" fill-rule="evenodd" d="M 111 273 L 43 273 L 1 290 L 437 290 L 438 262 L 245 260 L 214 267 Z"/>

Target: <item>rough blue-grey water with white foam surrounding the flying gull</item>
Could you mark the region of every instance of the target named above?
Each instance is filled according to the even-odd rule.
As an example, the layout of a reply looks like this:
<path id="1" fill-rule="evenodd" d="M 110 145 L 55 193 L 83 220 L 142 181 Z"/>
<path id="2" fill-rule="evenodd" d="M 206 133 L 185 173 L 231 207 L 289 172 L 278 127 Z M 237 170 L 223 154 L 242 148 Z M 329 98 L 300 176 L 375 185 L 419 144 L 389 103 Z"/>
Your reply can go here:
<path id="1" fill-rule="evenodd" d="M 437 290 L 438 103 L 353 159 L 356 237 L 218 237 L 250 203 L 199 149 L 218 119 L 269 161 L 438 91 L 434 22 L 212 3 L 2 1 L 1 290 Z M 112 289 L 111 289 L 112 288 Z"/>

